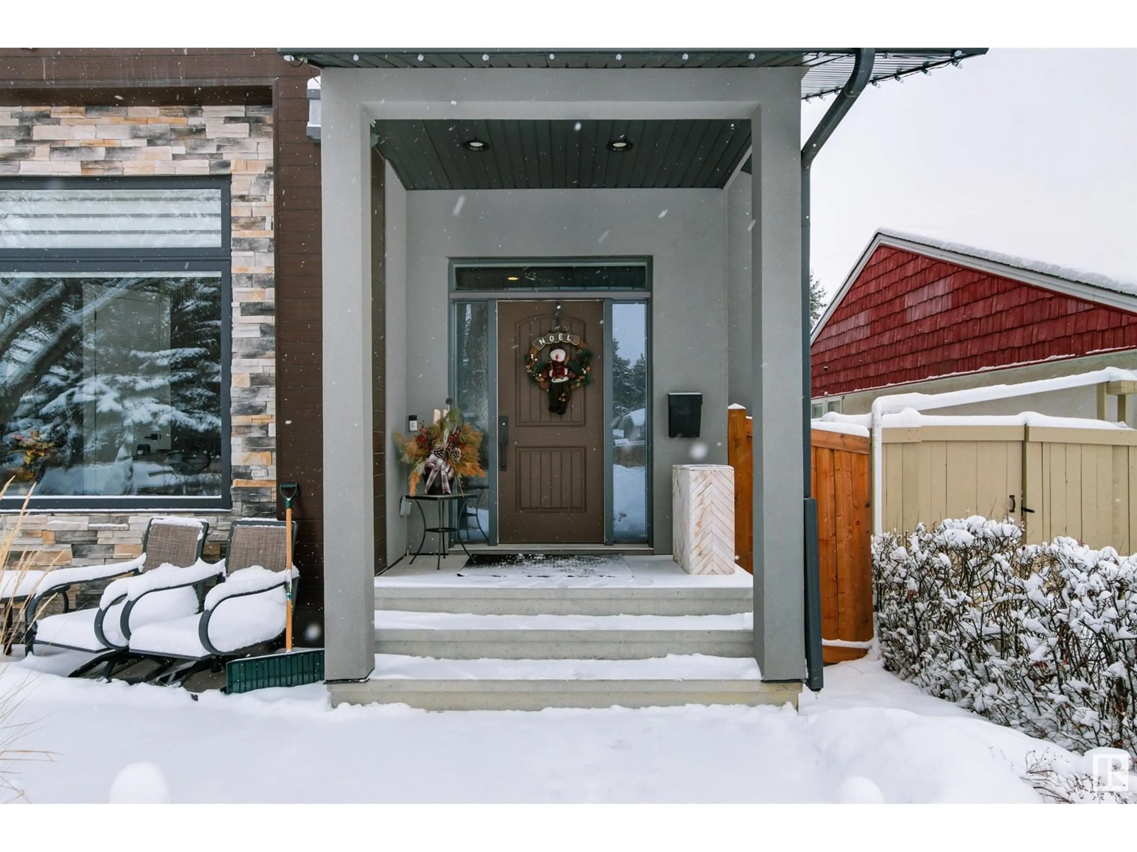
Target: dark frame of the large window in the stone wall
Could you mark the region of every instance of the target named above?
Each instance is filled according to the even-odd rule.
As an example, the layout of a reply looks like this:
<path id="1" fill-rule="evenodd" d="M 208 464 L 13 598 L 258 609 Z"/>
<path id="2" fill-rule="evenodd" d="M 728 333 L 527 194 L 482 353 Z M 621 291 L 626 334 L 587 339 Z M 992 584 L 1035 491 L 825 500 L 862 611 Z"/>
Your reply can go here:
<path id="1" fill-rule="evenodd" d="M 221 190 L 221 245 L 176 249 L 5 249 L 0 248 L 0 275 L 11 273 L 217 273 L 221 283 L 221 494 L 186 495 L 101 495 L 35 496 L 30 511 L 40 510 L 133 510 L 193 509 L 227 511 L 233 507 L 232 477 L 232 365 L 233 365 L 233 295 L 232 295 L 232 210 L 230 176 L 209 177 L 0 177 L 0 190 Z M 18 510 L 25 495 L 0 500 L 0 512 Z"/>

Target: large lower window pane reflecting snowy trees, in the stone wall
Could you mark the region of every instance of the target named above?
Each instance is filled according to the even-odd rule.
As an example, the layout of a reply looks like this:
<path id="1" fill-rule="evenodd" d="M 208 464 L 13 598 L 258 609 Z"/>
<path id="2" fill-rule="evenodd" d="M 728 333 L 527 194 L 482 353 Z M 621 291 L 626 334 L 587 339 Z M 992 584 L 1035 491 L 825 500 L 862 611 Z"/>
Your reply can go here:
<path id="1" fill-rule="evenodd" d="M 0 276 L 9 474 L 48 494 L 217 494 L 221 276 Z M 47 451 L 27 470 L 34 435 Z"/>

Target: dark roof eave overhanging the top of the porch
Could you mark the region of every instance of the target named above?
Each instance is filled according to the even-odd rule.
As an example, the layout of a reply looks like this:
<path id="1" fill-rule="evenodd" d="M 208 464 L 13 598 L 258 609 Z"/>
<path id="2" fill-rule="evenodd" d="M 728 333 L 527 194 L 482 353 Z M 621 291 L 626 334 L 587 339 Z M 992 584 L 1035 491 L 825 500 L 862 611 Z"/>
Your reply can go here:
<path id="1" fill-rule="evenodd" d="M 848 81 L 854 48 L 785 50 L 377 50 L 288 48 L 277 52 L 317 68 L 808 68 L 802 98 Z M 987 48 L 878 48 L 872 83 L 957 65 Z"/>

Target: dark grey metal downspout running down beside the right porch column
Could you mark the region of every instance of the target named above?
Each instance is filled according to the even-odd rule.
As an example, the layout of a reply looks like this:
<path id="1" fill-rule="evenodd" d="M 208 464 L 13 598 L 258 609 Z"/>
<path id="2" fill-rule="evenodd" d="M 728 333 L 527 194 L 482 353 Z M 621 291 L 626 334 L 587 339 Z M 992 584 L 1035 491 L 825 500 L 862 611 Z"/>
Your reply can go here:
<path id="1" fill-rule="evenodd" d="M 813 399 L 813 382 L 810 374 L 810 167 L 814 157 L 837 130 L 845 114 L 853 108 L 872 75 L 872 66 L 877 59 L 873 48 L 858 48 L 853 73 L 845 87 L 837 94 L 837 100 L 829 107 L 825 115 L 814 127 L 813 133 L 802 149 L 802 407 L 805 414 L 802 442 L 805 452 L 805 665 L 806 686 L 813 692 L 820 692 L 824 684 L 821 659 L 821 562 L 818 544 L 818 501 L 812 494 L 811 470 L 811 400 Z"/>

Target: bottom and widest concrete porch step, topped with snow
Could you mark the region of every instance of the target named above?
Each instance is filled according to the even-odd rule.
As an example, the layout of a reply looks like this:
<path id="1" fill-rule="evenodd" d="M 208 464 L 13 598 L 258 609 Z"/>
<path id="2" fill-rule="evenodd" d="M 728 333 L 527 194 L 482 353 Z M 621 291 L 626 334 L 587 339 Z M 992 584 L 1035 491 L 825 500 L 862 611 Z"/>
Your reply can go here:
<path id="1" fill-rule="evenodd" d="M 404 703 L 424 710 L 797 705 L 799 683 L 763 683 L 753 659 L 422 660 L 376 654 L 362 683 L 329 684 L 333 704 Z"/>

